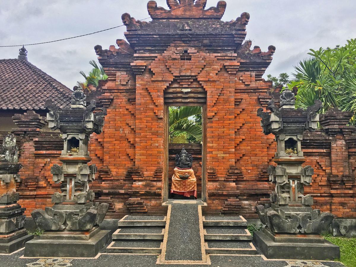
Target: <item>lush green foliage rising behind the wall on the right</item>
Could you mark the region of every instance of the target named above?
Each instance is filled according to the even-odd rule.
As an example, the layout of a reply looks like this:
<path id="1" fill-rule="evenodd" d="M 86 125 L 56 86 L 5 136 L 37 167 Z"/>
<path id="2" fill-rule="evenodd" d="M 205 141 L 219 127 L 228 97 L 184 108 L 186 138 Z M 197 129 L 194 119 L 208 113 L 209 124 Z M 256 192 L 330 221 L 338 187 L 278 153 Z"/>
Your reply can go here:
<path id="1" fill-rule="evenodd" d="M 330 108 L 356 114 L 356 39 L 347 40 L 345 46 L 310 49 L 311 57 L 295 67 L 289 88 L 298 87 L 296 105 L 307 108 L 316 99 L 323 103 L 322 112 Z"/>

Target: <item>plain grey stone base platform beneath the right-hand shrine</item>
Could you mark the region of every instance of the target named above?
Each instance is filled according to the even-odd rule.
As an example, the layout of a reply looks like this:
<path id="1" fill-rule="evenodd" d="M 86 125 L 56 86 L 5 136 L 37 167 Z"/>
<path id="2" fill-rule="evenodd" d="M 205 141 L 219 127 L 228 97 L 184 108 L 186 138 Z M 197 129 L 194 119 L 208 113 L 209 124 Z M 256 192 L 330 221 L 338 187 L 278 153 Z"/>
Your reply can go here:
<path id="1" fill-rule="evenodd" d="M 290 238 L 290 242 L 287 239 L 283 242 L 274 242 L 264 231 L 256 231 L 253 234 L 253 240 L 268 259 L 334 260 L 340 258 L 340 248 L 326 240 L 321 243 L 312 238 L 314 243 L 305 243 L 305 238 L 300 242 L 292 239 L 295 238 Z"/>

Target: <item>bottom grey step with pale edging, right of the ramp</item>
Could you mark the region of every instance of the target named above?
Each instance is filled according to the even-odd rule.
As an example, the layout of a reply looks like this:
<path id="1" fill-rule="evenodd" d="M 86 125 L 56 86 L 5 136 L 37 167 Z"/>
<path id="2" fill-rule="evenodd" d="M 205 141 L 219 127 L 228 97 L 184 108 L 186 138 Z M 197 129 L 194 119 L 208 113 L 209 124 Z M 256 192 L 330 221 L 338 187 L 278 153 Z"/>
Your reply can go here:
<path id="1" fill-rule="evenodd" d="M 239 254 L 256 255 L 257 250 L 251 241 L 207 241 L 205 242 L 205 251 L 209 254 Z"/>

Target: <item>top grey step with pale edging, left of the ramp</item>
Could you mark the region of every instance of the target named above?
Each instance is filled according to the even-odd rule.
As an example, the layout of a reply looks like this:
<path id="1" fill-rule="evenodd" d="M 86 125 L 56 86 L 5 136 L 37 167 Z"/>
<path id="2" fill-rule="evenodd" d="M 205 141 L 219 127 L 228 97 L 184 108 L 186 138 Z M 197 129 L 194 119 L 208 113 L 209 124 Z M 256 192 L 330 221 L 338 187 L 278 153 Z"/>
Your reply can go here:
<path id="1" fill-rule="evenodd" d="M 154 215 L 126 215 L 120 221 L 118 226 L 165 226 L 166 216 L 154 216 Z"/>

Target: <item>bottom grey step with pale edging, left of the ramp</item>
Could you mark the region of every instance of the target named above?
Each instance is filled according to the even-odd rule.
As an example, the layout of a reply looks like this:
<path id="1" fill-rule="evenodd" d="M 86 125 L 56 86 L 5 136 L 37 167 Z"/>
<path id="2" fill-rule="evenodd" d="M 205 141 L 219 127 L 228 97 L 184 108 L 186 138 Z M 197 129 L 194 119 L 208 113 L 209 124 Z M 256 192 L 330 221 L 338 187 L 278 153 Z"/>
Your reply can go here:
<path id="1" fill-rule="evenodd" d="M 161 253 L 161 240 L 116 240 L 105 249 L 106 253 Z"/>

